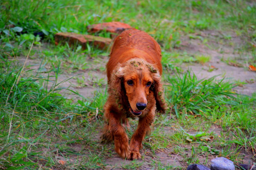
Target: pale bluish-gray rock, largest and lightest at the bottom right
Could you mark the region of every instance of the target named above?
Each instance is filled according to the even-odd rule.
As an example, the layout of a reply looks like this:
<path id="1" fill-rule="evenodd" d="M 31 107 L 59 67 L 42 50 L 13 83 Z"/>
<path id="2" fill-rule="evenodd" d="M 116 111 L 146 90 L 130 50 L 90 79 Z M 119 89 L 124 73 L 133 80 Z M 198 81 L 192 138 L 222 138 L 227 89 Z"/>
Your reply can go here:
<path id="1" fill-rule="evenodd" d="M 215 158 L 210 164 L 211 170 L 235 170 L 234 163 L 231 160 L 220 157 Z"/>

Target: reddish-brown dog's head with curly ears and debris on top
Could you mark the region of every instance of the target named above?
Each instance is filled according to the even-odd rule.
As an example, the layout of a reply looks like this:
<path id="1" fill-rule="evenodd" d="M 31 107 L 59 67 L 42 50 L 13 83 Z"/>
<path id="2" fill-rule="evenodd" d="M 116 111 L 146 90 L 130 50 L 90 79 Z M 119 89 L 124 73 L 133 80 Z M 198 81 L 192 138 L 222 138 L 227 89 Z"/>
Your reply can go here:
<path id="1" fill-rule="evenodd" d="M 130 59 L 119 64 L 110 78 L 110 92 L 134 116 L 141 116 L 148 105 L 148 95 L 154 93 L 156 110 L 164 112 L 163 87 L 157 69 L 143 59 Z"/>

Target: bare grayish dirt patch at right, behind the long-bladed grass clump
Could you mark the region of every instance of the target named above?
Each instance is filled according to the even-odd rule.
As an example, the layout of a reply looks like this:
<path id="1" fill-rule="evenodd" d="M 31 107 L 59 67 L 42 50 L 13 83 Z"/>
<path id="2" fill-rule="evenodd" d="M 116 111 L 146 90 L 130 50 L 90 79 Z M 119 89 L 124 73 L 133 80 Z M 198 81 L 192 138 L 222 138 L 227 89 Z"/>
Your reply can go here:
<path id="1" fill-rule="evenodd" d="M 201 32 L 200 36 L 209 39 L 208 45 L 205 45 L 199 39 L 184 37 L 180 50 L 186 51 L 191 55 L 203 54 L 204 56 L 210 56 L 211 59 L 203 65 L 200 63 L 183 63 L 182 67 L 191 69 L 198 79 L 207 79 L 219 75 L 216 79 L 225 78 L 229 82 L 237 82 L 240 86 L 237 86 L 234 90 L 238 94 L 251 95 L 256 92 L 256 72 L 248 69 L 249 63 L 246 60 L 253 58 L 253 56 L 251 53 L 245 52 L 239 54 L 234 49 L 239 48 L 237 47 L 239 45 L 245 44 L 244 40 L 234 33 L 230 33 L 231 40 L 225 40 L 217 44 L 222 34 L 214 31 Z M 232 63 L 234 61 L 236 63 Z"/>

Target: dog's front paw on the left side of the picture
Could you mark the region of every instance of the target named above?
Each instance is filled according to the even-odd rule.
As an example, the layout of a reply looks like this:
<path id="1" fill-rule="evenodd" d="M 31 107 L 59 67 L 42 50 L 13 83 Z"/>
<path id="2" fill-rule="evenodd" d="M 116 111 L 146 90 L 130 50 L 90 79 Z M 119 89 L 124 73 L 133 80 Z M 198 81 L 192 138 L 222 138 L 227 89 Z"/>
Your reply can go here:
<path id="1" fill-rule="evenodd" d="M 115 151 L 118 155 L 120 155 L 123 159 L 130 159 L 130 146 L 128 137 L 114 139 L 115 142 Z"/>

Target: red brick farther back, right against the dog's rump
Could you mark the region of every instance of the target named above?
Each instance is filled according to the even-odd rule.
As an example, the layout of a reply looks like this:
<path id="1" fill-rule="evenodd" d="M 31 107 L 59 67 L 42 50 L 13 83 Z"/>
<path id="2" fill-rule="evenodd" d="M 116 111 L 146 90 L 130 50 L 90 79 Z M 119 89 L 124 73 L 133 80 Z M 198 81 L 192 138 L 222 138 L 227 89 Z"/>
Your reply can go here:
<path id="1" fill-rule="evenodd" d="M 115 33 L 115 35 L 125 31 L 126 29 L 131 29 L 131 28 L 132 27 L 130 25 L 121 23 L 121 22 L 93 24 L 87 27 L 88 32 L 106 31 L 106 32 Z"/>

